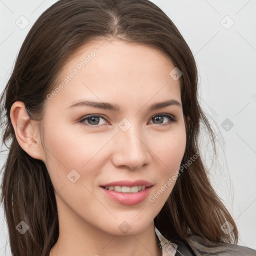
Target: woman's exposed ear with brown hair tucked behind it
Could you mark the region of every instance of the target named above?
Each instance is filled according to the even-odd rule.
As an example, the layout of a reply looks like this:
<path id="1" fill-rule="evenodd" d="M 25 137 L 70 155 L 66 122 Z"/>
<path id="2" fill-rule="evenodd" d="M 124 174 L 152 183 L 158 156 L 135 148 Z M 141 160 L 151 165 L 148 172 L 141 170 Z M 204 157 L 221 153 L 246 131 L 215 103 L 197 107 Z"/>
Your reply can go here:
<path id="1" fill-rule="evenodd" d="M 44 161 L 37 122 L 30 120 L 22 101 L 15 101 L 12 104 L 10 119 L 21 148 L 31 157 Z"/>

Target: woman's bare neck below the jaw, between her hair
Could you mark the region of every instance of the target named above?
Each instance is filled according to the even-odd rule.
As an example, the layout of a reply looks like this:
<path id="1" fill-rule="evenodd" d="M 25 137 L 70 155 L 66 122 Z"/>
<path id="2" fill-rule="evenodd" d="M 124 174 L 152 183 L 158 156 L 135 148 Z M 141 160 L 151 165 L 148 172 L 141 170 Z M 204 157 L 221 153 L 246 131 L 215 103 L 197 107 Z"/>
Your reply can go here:
<path id="1" fill-rule="evenodd" d="M 90 225 L 72 211 L 58 213 L 59 237 L 49 256 L 161 256 L 153 221 L 136 234 L 114 235 Z"/>

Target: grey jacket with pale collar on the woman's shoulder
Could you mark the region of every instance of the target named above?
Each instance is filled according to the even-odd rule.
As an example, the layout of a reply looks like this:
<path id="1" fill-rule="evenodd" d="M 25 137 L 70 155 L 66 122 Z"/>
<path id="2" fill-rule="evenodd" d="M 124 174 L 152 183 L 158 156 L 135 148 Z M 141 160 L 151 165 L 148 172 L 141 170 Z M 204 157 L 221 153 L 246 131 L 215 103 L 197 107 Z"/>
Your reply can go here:
<path id="1" fill-rule="evenodd" d="M 256 256 L 256 250 L 237 244 L 219 242 L 216 246 L 207 246 L 198 235 L 191 235 L 187 241 L 172 243 L 154 227 L 162 249 L 162 256 Z"/>

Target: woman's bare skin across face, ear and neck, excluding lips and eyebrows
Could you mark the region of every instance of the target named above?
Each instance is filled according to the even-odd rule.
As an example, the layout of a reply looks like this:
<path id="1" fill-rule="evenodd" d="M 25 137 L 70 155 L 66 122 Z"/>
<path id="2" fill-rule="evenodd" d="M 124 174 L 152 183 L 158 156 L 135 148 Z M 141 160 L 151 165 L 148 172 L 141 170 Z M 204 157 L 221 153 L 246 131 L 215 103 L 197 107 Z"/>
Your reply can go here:
<path id="1" fill-rule="evenodd" d="M 174 65 L 163 52 L 147 45 L 102 39 L 84 45 L 69 59 L 59 83 L 95 48 L 99 52 L 86 66 L 52 99 L 45 99 L 41 123 L 29 120 L 21 101 L 14 102 L 10 111 L 18 143 L 45 163 L 56 191 L 59 238 L 50 256 L 157 255 L 153 218 L 174 182 L 154 202 L 149 196 L 175 174 L 184 154 L 179 80 L 169 75 Z M 67 108 L 85 98 L 118 104 L 120 111 Z M 153 103 L 169 99 L 181 106 L 147 110 Z M 152 118 L 163 113 L 173 115 L 176 122 L 168 117 Z M 98 127 L 93 127 L 91 119 L 79 123 L 89 114 L 106 119 L 100 117 L 94 125 Z M 123 118 L 131 124 L 126 131 L 118 126 Z M 67 178 L 72 169 L 80 175 L 74 183 Z M 100 184 L 123 179 L 144 179 L 153 186 L 147 198 L 135 205 L 114 202 L 99 189 Z M 126 233 L 118 228 L 123 221 L 130 227 Z"/>

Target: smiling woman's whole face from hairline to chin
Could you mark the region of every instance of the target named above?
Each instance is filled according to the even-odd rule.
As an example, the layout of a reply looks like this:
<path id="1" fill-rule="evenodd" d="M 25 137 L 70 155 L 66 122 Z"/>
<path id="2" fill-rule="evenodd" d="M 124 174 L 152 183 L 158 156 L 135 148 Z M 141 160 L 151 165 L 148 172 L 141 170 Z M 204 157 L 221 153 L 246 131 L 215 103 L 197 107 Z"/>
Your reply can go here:
<path id="1" fill-rule="evenodd" d="M 87 44 L 68 60 L 43 120 L 44 162 L 63 219 L 111 234 L 152 223 L 185 150 L 173 68 L 159 50 L 118 40 Z"/>

